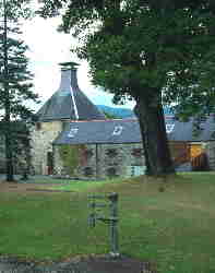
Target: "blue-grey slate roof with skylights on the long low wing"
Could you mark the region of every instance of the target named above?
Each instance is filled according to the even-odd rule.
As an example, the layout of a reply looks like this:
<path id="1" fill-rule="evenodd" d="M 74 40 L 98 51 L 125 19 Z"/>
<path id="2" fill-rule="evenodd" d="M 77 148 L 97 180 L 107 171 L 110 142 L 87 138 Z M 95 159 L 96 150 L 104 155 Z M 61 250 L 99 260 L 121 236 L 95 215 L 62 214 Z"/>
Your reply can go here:
<path id="1" fill-rule="evenodd" d="M 179 122 L 172 117 L 166 118 L 166 128 L 170 141 L 199 142 L 214 140 L 215 123 L 210 117 L 204 130 L 193 136 L 193 123 Z M 55 140 L 53 144 L 101 144 L 101 143 L 140 143 L 141 132 L 136 119 L 73 121 Z"/>

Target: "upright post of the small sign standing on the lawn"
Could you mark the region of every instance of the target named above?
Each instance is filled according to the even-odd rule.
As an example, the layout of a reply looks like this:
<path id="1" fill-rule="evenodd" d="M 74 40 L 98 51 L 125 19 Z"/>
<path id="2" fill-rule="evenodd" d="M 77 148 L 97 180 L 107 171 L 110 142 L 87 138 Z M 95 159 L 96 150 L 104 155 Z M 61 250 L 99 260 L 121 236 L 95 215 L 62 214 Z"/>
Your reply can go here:
<path id="1" fill-rule="evenodd" d="M 119 257 L 119 238 L 118 238 L 118 193 L 109 194 L 110 200 L 110 247 L 111 257 Z"/>

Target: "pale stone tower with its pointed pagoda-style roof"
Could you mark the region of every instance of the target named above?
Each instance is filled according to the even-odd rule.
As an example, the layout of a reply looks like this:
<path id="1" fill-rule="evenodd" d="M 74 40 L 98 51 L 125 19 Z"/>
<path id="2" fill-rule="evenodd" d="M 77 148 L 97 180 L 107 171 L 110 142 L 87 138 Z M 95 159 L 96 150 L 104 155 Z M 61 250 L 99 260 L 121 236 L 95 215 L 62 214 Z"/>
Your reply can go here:
<path id="1" fill-rule="evenodd" d="M 61 63 L 60 86 L 36 114 L 37 122 L 32 130 L 32 164 L 35 174 L 53 174 L 52 142 L 68 122 L 105 119 L 104 114 L 79 88 L 76 67 L 74 62 Z"/>

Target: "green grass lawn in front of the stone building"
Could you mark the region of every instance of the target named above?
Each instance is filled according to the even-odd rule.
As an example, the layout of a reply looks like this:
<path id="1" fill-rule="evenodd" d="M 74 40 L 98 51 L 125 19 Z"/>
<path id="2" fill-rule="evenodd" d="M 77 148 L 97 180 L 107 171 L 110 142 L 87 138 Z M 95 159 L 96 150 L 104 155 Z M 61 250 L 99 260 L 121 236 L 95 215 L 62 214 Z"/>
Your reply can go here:
<path id="1" fill-rule="evenodd" d="M 115 191 L 122 253 L 156 263 L 160 273 L 215 272 L 214 173 L 182 174 L 168 182 L 140 177 L 52 188 L 72 192 L 0 192 L 0 254 L 60 260 L 108 252 L 107 226 L 87 226 L 87 195 Z"/>

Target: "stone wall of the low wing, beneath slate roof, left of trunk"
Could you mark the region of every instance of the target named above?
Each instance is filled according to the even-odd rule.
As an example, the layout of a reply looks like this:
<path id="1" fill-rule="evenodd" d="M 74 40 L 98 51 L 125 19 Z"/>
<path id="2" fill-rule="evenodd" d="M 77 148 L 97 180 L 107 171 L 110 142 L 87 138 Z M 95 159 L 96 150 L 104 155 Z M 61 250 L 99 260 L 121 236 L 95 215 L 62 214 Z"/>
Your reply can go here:
<path id="1" fill-rule="evenodd" d="M 88 178 L 130 177 L 144 173 L 142 145 L 136 144 L 91 144 L 76 146 L 77 162 L 73 176 Z M 71 175 L 67 171 L 61 146 L 55 146 L 55 174 Z"/>

